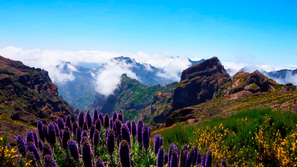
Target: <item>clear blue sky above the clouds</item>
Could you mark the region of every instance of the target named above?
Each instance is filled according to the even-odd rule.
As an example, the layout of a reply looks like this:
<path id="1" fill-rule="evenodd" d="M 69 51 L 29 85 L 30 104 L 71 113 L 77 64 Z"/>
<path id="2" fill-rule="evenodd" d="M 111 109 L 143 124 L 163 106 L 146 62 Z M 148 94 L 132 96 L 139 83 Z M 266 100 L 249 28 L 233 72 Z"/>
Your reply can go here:
<path id="1" fill-rule="evenodd" d="M 296 1 L 2 0 L 0 48 L 166 52 L 297 65 L 296 8 Z"/>

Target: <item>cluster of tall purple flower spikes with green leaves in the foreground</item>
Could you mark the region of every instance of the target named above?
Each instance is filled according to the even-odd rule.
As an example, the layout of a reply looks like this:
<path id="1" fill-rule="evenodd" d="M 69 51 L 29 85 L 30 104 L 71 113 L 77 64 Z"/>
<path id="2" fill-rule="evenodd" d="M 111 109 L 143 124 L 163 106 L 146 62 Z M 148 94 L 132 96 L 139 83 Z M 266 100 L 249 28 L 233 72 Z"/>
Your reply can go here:
<path id="1" fill-rule="evenodd" d="M 37 130 L 16 138 L 26 166 L 212 166 L 210 150 L 200 152 L 196 146 L 185 144 L 179 153 L 177 145 L 170 144 L 167 152 L 160 135 L 150 139 L 151 128 L 142 120 L 124 122 L 122 110 L 111 118 L 96 109 L 93 116 L 81 111 L 77 122 L 67 116 L 47 125 L 38 122 Z M 226 160 L 213 165 L 226 167 Z"/>

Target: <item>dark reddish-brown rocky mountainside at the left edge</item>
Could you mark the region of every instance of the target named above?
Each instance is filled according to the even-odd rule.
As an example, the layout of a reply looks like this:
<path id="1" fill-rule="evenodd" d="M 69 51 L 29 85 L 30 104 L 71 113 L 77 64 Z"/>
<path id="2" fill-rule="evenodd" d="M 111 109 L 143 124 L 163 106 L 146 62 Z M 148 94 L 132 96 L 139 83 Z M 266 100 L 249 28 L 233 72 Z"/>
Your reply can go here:
<path id="1" fill-rule="evenodd" d="M 48 72 L 0 56 L 0 132 L 17 135 L 40 119 L 74 115 Z M 11 138 L 10 138 L 11 139 Z"/>

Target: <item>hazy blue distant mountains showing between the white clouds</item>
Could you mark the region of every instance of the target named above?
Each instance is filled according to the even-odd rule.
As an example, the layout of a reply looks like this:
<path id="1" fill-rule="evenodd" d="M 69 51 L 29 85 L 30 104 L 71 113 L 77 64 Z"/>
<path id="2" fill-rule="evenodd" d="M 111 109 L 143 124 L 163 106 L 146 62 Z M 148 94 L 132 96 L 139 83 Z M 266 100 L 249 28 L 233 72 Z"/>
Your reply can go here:
<path id="1" fill-rule="evenodd" d="M 131 65 L 131 71 L 136 74 L 140 83 L 144 85 L 166 85 L 175 82 L 173 79 L 166 79 L 158 75 L 158 73 L 163 72 L 162 68 L 156 68 L 150 64 L 138 63 L 135 59 L 129 57 L 116 57 L 114 60 L 124 61 L 125 63 Z M 188 59 L 191 65 L 203 62 L 204 59 L 199 61 L 192 61 Z M 71 71 L 67 68 L 68 65 L 74 66 L 77 71 Z M 97 95 L 95 97 L 95 79 L 92 76 L 100 71 L 104 67 L 104 64 L 96 68 L 84 68 L 83 66 L 75 66 L 70 62 L 65 62 L 57 65 L 63 69 L 64 73 L 72 73 L 75 79 L 72 81 L 67 81 L 67 83 L 57 83 L 59 87 L 60 95 L 74 108 L 79 108 L 81 110 L 93 109 L 93 101 L 95 99 L 95 106 L 101 106 L 105 102 L 105 97 L 103 95 Z"/>

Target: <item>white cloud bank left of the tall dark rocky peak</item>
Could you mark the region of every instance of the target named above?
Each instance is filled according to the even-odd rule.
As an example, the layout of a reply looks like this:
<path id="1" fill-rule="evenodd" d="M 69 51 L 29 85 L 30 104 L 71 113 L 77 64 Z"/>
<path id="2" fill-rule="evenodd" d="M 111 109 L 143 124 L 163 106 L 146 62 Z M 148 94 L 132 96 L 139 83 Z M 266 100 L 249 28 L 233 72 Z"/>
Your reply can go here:
<path id="1" fill-rule="evenodd" d="M 19 60 L 25 65 L 31 67 L 38 67 L 49 71 L 49 76 L 54 83 L 66 83 L 67 81 L 72 81 L 75 79 L 72 72 L 77 69 L 75 66 L 68 65 L 70 73 L 65 73 L 62 70 L 62 67 L 65 65 L 65 62 L 71 62 L 73 65 L 79 63 L 97 63 L 97 64 L 106 64 L 104 71 L 100 73 L 90 72 L 91 75 L 98 79 L 97 83 L 97 92 L 107 95 L 114 91 L 116 86 L 115 84 L 104 85 L 101 82 L 109 82 L 109 79 L 114 77 L 114 83 L 119 83 L 118 79 L 122 73 L 127 73 L 131 78 L 136 78 L 136 75 L 132 73 L 130 67 L 124 66 L 123 63 L 110 62 L 110 59 L 114 57 L 119 57 L 121 55 L 134 58 L 136 62 L 147 63 L 155 66 L 157 68 L 164 68 L 162 73 L 159 73 L 159 76 L 162 76 L 166 79 L 175 79 L 178 81 L 180 79 L 180 72 L 186 69 L 190 63 L 187 58 L 172 58 L 167 57 L 166 55 L 158 54 L 147 54 L 142 51 L 136 53 L 115 53 L 115 52 L 104 52 L 96 50 L 80 50 L 80 51 L 63 51 L 63 50 L 50 50 L 50 49 L 22 49 L 14 46 L 9 46 L 5 48 L 0 48 L 0 55 L 10 58 L 12 60 Z M 115 66 L 117 64 L 117 66 Z M 59 67 L 56 67 L 60 65 Z M 147 70 L 152 70 L 149 65 L 146 66 Z M 115 71 L 110 72 L 109 71 Z M 107 75 L 108 74 L 108 75 Z M 110 76 L 115 75 L 115 76 Z M 105 78 L 104 78 L 105 77 Z M 108 82 L 106 82 L 108 81 Z M 111 82 L 111 81 L 110 81 Z"/>

